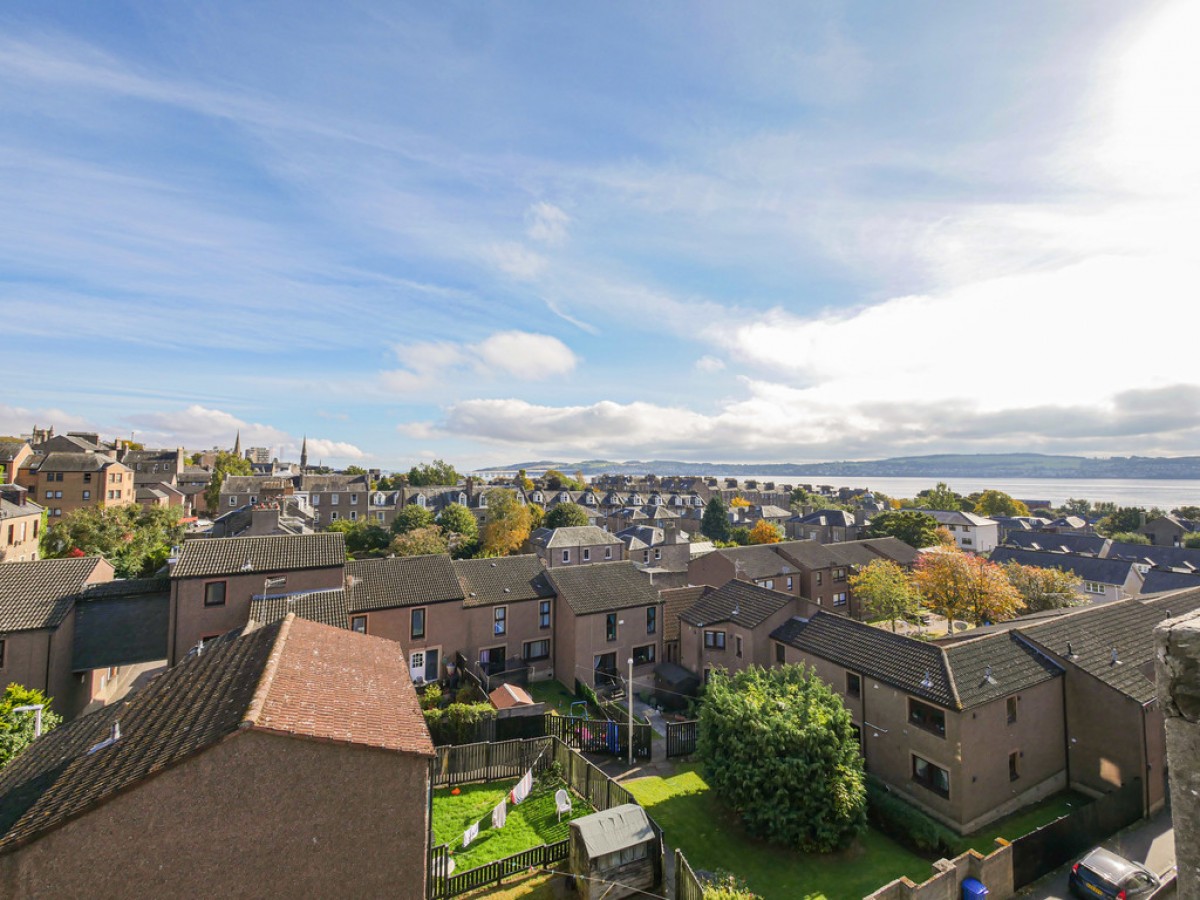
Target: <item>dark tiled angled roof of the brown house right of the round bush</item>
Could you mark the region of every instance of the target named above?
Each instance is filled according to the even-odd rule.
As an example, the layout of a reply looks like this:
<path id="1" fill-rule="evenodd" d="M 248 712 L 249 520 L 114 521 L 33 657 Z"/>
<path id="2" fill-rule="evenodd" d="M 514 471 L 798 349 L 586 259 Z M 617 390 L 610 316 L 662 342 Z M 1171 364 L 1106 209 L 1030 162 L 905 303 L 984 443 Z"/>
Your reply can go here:
<path id="1" fill-rule="evenodd" d="M 943 648 L 818 611 L 808 620 L 788 619 L 772 637 L 954 710 L 990 703 L 1062 673 L 1014 632 Z"/>

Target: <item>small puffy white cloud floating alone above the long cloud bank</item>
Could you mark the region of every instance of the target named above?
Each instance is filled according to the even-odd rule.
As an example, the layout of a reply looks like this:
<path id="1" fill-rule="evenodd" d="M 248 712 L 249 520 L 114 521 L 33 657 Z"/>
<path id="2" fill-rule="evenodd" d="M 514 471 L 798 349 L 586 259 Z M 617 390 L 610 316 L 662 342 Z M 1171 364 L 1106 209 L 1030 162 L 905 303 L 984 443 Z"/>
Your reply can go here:
<path id="1" fill-rule="evenodd" d="M 395 353 L 404 367 L 380 373 L 380 382 L 397 394 L 446 388 L 464 377 L 540 380 L 565 376 L 577 362 L 571 348 L 557 337 L 529 331 L 497 331 L 474 344 L 402 344 Z"/>

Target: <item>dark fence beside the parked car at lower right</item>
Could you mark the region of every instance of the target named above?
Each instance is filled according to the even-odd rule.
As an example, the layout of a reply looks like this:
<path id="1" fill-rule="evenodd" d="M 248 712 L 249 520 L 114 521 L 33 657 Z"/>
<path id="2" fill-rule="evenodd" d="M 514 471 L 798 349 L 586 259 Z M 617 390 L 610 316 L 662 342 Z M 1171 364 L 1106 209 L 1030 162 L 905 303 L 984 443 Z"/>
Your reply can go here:
<path id="1" fill-rule="evenodd" d="M 1081 856 L 1142 816 L 1142 784 L 1134 778 L 1069 816 L 1013 841 L 1013 887 L 1021 888 Z"/>

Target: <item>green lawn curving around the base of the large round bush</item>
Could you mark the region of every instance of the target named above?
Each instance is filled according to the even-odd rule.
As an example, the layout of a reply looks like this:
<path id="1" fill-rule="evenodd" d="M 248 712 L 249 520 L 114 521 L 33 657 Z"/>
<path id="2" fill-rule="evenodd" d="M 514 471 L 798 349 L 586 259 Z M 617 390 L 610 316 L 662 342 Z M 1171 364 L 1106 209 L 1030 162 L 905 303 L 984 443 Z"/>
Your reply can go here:
<path id="1" fill-rule="evenodd" d="M 829 854 L 754 840 L 709 791 L 698 766 L 680 766 L 672 778 L 624 784 L 692 869 L 736 872 L 766 900 L 858 900 L 902 875 L 917 882 L 932 875 L 928 860 L 874 829 L 850 848 Z"/>

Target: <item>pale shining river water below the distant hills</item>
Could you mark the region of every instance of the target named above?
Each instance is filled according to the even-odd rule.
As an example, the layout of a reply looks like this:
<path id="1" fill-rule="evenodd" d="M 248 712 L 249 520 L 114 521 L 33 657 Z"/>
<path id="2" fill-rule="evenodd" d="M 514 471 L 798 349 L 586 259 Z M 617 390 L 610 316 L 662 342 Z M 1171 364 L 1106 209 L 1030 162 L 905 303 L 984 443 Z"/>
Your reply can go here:
<path id="1" fill-rule="evenodd" d="M 726 478 L 721 475 L 720 478 Z M 730 475 L 728 478 L 733 478 Z M 1120 479 L 1120 478 L 874 478 L 868 475 L 739 475 L 739 481 L 757 479 L 776 485 L 833 485 L 869 487 L 888 497 L 916 497 L 926 487 L 946 481 L 952 491 L 966 496 L 995 488 L 1019 500 L 1049 500 L 1061 506 L 1068 497 L 1099 503 L 1111 500 L 1118 506 L 1200 506 L 1200 480 Z"/>

